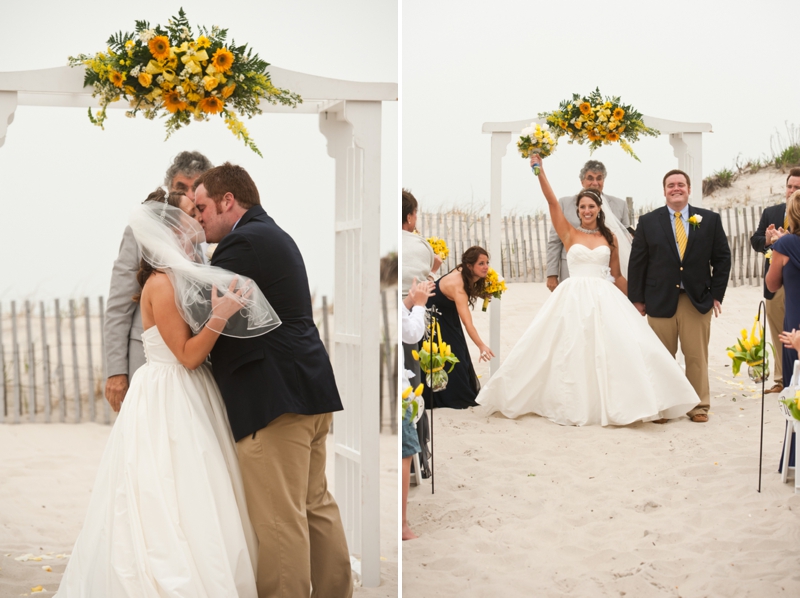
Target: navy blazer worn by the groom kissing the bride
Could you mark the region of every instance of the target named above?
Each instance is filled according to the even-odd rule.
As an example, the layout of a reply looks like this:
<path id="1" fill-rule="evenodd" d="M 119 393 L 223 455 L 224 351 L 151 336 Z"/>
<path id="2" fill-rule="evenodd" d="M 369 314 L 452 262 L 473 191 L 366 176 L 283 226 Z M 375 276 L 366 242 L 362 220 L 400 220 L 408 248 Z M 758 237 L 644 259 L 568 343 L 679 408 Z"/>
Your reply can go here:
<path id="1" fill-rule="evenodd" d="M 219 243 L 211 265 L 253 279 L 282 322 L 253 338 L 220 336 L 211 351 L 234 438 L 284 413 L 340 411 L 333 368 L 314 324 L 306 267 L 294 240 L 261 206 L 254 206 Z"/>

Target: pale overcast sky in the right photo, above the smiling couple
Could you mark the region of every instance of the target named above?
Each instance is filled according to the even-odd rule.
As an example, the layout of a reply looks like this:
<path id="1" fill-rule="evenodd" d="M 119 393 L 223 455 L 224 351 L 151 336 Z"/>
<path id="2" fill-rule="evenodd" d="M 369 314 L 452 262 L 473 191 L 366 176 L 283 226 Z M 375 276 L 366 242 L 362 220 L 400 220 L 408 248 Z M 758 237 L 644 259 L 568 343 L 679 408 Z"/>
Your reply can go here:
<path id="1" fill-rule="evenodd" d="M 704 176 L 737 155 L 770 154 L 770 138 L 800 124 L 800 2 L 403 2 L 403 174 L 421 209 L 488 212 L 490 139 L 484 122 L 533 119 L 572 93 L 619 95 L 643 114 L 709 122 Z M 546 208 L 516 139 L 503 159 L 503 211 Z M 677 167 L 668 137 L 592 156 L 605 191 L 637 206 L 663 201 Z M 556 194 L 580 188 L 587 146 L 559 145 L 546 161 Z M 693 181 L 700 186 L 700 181 Z"/>

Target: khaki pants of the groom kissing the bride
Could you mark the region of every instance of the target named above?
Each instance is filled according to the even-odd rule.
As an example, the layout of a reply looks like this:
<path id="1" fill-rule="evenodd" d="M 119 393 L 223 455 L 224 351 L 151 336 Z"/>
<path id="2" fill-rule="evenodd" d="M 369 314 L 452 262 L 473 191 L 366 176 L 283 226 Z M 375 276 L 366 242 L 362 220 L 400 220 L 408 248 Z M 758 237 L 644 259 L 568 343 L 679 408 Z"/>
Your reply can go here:
<path id="1" fill-rule="evenodd" d="M 236 443 L 258 536 L 259 598 L 353 594 L 347 540 L 325 478 L 332 419 L 285 413 Z"/>

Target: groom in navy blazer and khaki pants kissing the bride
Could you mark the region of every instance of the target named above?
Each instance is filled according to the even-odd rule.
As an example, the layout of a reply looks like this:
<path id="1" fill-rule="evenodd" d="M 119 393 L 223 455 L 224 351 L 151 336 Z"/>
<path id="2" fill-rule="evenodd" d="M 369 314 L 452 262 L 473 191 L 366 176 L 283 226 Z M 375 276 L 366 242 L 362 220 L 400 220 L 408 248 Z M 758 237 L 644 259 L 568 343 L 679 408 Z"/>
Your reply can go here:
<path id="1" fill-rule="evenodd" d="M 219 242 L 211 265 L 251 278 L 281 319 L 261 336 L 220 336 L 211 352 L 258 535 L 258 595 L 308 597 L 313 585 L 314 596 L 349 597 L 350 554 L 325 478 L 325 440 L 342 402 L 303 257 L 240 166 L 201 175 L 195 202 L 206 240 Z"/>

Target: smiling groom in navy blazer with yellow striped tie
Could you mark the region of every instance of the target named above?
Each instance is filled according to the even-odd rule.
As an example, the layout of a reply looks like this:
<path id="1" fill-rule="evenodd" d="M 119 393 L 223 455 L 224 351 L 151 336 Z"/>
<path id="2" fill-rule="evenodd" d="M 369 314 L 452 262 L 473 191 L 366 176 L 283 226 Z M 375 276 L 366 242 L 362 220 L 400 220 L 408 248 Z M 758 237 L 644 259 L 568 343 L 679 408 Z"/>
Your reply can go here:
<path id="1" fill-rule="evenodd" d="M 664 176 L 666 205 L 639 219 L 628 261 L 628 298 L 674 357 L 678 339 L 686 377 L 700 397 L 688 415 L 708 421 L 711 312 L 722 312 L 731 251 L 719 214 L 689 205 L 681 170 Z M 663 423 L 663 422 L 662 422 Z"/>

